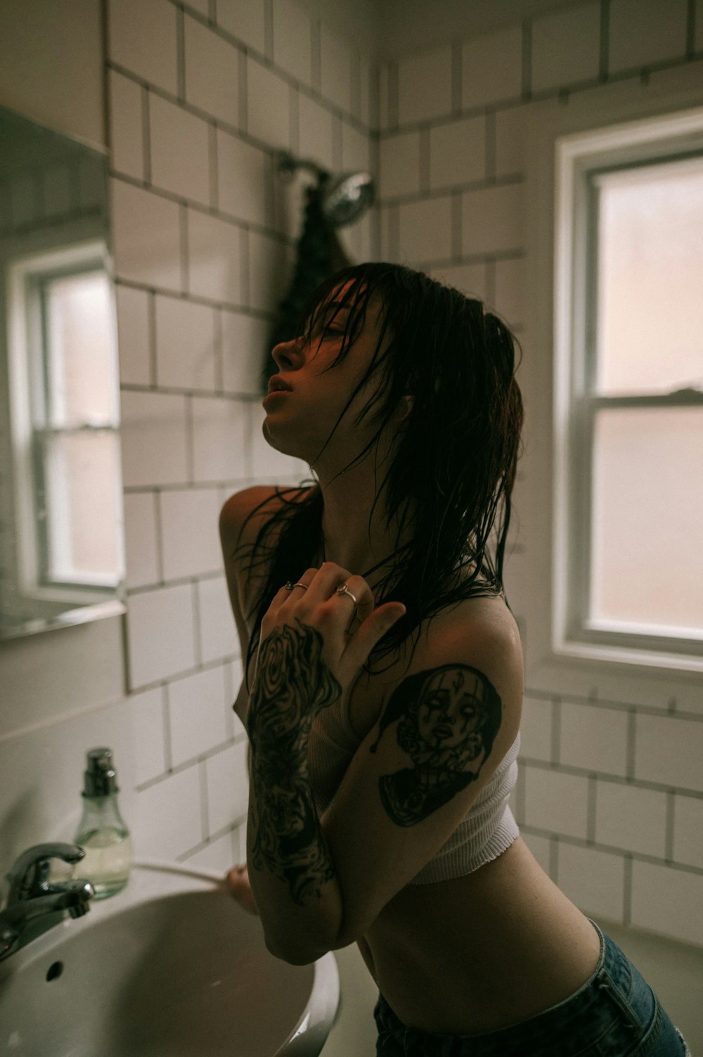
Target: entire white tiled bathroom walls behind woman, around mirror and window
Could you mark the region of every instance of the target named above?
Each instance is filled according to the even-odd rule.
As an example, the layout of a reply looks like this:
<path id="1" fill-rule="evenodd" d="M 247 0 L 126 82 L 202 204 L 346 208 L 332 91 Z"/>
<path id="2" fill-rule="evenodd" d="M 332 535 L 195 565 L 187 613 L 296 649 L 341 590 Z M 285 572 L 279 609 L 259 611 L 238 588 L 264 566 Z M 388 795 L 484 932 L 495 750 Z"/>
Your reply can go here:
<path id="1" fill-rule="evenodd" d="M 0 36 L 0 103 L 110 151 L 128 551 L 124 624 L 0 648 L 2 872 L 27 845 L 71 835 L 82 755 L 99 743 L 115 749 L 137 855 L 224 870 L 242 854 L 245 745 L 229 707 L 241 667 L 217 513 L 236 488 L 307 475 L 260 433 L 260 350 L 302 186 L 279 182 L 274 150 L 334 169 L 380 165 L 380 241 L 369 217 L 349 233 L 350 252 L 425 267 L 515 326 L 534 437 L 551 383 L 525 330 L 531 108 L 568 86 L 599 93 L 607 114 L 625 84 L 656 92 L 701 76 L 700 0 L 640 0 L 636 17 L 632 6 L 591 0 L 476 39 L 447 4 L 449 42 L 393 53 L 374 71 L 360 0 L 346 5 L 356 33 L 322 0 L 109 0 L 105 25 L 98 0 L 40 0 L 31 13 L 0 0 L 12 30 Z M 415 4 L 411 17 L 425 13 Z M 50 53 L 63 61 L 51 64 Z M 524 590 L 534 540 L 520 532 L 519 505 L 534 480 L 525 461 L 507 565 L 528 652 L 540 616 Z M 575 691 L 563 686 L 528 685 L 515 810 L 567 893 L 621 923 L 667 1005 L 679 996 L 693 1045 L 703 701 L 676 681 L 606 669 Z M 340 962 L 341 1019 L 326 1054 L 360 1057 L 372 1045 L 356 1026 L 371 988 L 353 951 Z"/>

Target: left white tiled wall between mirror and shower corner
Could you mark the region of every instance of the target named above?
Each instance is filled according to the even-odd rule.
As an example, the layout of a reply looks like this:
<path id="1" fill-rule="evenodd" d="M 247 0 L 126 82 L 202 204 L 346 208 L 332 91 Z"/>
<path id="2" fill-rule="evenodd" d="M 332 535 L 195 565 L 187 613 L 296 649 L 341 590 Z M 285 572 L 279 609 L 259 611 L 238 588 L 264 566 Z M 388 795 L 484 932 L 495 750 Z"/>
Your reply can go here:
<path id="1" fill-rule="evenodd" d="M 135 836 L 224 871 L 247 771 L 219 509 L 310 477 L 261 432 L 304 186 L 282 184 L 276 152 L 372 165 L 372 71 L 295 0 L 109 0 L 108 31 Z M 345 239 L 370 256 L 370 220 Z"/>

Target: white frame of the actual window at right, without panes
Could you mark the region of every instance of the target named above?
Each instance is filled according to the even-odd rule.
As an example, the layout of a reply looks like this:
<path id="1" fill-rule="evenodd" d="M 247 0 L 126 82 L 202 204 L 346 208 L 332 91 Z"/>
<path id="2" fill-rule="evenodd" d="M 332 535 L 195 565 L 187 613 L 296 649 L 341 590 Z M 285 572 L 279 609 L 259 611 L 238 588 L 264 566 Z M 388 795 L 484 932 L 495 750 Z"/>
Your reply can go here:
<path id="1" fill-rule="evenodd" d="M 607 396 L 590 391 L 595 364 L 594 256 L 603 171 L 703 153 L 703 108 L 591 127 L 553 137 L 554 393 L 552 635 L 554 654 L 703 670 L 703 639 L 608 628 L 588 620 L 590 497 L 595 415 L 615 406 L 703 406 L 698 390 L 666 395 Z M 584 455 L 586 452 L 586 458 Z M 584 545 L 574 554 L 574 540 Z"/>

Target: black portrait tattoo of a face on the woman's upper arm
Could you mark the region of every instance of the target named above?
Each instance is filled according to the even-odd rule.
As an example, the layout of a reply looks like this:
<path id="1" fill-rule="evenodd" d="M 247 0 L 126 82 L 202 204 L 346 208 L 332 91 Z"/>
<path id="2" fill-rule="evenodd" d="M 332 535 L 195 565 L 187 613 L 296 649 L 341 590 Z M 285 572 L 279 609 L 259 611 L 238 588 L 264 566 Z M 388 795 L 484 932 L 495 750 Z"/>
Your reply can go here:
<path id="1" fill-rule="evenodd" d="M 442 665 L 404 680 L 371 746 L 375 753 L 386 728 L 397 723 L 397 745 L 412 761 L 378 780 L 387 815 L 397 826 L 415 826 L 476 781 L 501 718 L 496 688 L 468 665 Z"/>

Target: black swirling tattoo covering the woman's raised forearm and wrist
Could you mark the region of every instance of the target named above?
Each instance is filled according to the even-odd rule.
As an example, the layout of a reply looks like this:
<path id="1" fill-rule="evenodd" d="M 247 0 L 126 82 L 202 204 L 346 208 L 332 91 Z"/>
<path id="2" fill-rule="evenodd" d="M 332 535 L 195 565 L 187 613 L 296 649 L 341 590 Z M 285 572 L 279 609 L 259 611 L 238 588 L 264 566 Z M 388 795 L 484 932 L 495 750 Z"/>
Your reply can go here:
<path id="1" fill-rule="evenodd" d="M 308 741 L 315 716 L 341 697 L 322 659 L 322 636 L 297 620 L 274 630 L 259 651 L 247 728 L 256 813 L 253 858 L 285 882 L 295 903 L 320 896 L 334 877 L 310 784 Z"/>

